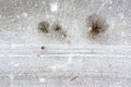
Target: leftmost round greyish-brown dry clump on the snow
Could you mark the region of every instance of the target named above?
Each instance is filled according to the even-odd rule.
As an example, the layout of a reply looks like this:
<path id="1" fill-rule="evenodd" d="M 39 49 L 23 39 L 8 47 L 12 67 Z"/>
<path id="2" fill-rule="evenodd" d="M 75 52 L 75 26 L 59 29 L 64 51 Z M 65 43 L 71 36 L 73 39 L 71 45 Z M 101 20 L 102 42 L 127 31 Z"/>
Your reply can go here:
<path id="1" fill-rule="evenodd" d="M 38 29 L 40 30 L 40 32 L 43 32 L 43 33 L 49 33 L 49 23 L 48 22 L 40 22 L 39 24 L 38 24 Z"/>

